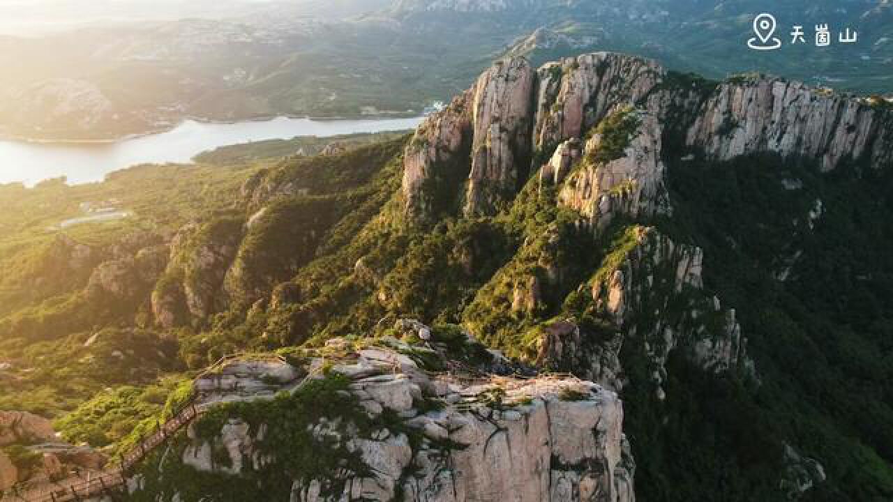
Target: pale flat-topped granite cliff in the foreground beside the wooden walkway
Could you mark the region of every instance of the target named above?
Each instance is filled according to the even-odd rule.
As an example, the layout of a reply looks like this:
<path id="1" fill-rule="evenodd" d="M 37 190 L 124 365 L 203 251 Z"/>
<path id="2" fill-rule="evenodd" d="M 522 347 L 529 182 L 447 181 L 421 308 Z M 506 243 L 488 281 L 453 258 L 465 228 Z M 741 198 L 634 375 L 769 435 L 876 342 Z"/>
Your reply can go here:
<path id="1" fill-rule="evenodd" d="M 412 337 L 430 332 L 419 322 L 397 326 Z M 484 350 L 473 339 L 465 343 Z M 635 500 L 635 464 L 622 433 L 622 402 L 611 390 L 566 377 L 522 380 L 430 372 L 423 361 L 444 356 L 445 347 L 437 341 L 424 347 L 384 339 L 352 353 L 349 342 L 332 339 L 328 347 L 346 358 L 313 358 L 305 368 L 234 362 L 199 385 L 202 406 L 242 401 L 263 410 L 264 400 L 272 397 L 265 390 L 271 381 L 296 393 L 307 382 L 347 379 L 338 399 L 355 402 L 359 415 L 348 410 L 306 425 L 307 440 L 325 448 L 325 455 L 343 452 L 344 467 L 333 476 L 296 476 L 292 501 L 496 500 L 506 494 L 529 502 Z M 506 363 L 491 353 L 477 368 L 505 371 Z M 322 376 L 319 368 L 327 365 L 329 376 Z M 294 377 L 307 374 L 307 380 L 295 383 Z M 288 424 L 277 423 L 272 414 L 263 423 L 228 416 L 210 431 L 201 421 L 190 428 L 179 454 L 182 464 L 223 478 L 263 476 L 277 469 L 279 460 L 264 441 Z M 151 484 L 137 476 L 131 489 Z M 177 497 L 170 492 L 159 499 Z"/>

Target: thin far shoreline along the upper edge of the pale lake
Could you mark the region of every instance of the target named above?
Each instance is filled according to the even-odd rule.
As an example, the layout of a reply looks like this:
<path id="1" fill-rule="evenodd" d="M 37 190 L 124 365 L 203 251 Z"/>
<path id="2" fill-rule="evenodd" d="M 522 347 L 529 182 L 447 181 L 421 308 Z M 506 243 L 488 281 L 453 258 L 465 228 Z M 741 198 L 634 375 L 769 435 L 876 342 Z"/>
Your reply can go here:
<path id="1" fill-rule="evenodd" d="M 146 130 L 143 132 L 135 132 L 132 134 L 124 134 L 121 136 L 117 136 L 114 138 L 101 138 L 101 139 L 51 139 L 51 138 L 33 138 L 28 136 L 20 136 L 15 134 L 8 134 L 0 132 L 0 141 L 14 141 L 17 143 L 27 143 L 31 145 L 46 145 L 46 146 L 108 146 L 116 143 L 123 143 L 125 141 L 130 141 L 133 139 L 145 138 L 146 136 L 154 136 L 155 134 L 163 134 L 165 132 L 170 132 L 171 130 L 177 129 L 179 126 L 183 125 L 188 121 L 193 121 L 199 124 L 237 124 L 237 123 L 249 123 L 249 122 L 268 122 L 275 121 L 277 119 L 289 119 L 289 120 L 308 120 L 308 121 L 316 121 L 316 122 L 331 122 L 331 121 L 399 121 L 404 119 L 414 119 L 422 117 L 423 115 L 418 115 L 414 113 L 388 113 L 388 114 L 375 114 L 375 115 L 344 115 L 344 116 L 321 116 L 314 117 L 312 115 L 291 115 L 287 113 L 279 113 L 275 115 L 263 115 L 250 119 L 234 119 L 228 121 L 221 121 L 215 119 L 208 119 L 207 117 L 193 117 L 186 116 L 183 117 L 180 121 L 176 123 L 159 125 L 158 127 Z"/>

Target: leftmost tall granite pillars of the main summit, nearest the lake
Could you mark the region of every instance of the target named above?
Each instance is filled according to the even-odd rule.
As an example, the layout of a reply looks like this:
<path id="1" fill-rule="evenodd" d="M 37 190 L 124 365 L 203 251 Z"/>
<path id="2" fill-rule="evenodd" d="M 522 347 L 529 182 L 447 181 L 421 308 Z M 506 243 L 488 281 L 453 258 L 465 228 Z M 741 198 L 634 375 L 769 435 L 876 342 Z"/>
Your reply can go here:
<path id="1" fill-rule="evenodd" d="M 465 179 L 459 197 L 463 213 L 492 214 L 511 200 L 530 163 L 534 81 L 522 58 L 497 63 L 471 91 L 421 126 L 405 152 L 407 213 L 429 217 L 434 201 L 445 198 L 442 192 L 455 194 Z M 448 199 L 437 206 L 445 205 Z"/>

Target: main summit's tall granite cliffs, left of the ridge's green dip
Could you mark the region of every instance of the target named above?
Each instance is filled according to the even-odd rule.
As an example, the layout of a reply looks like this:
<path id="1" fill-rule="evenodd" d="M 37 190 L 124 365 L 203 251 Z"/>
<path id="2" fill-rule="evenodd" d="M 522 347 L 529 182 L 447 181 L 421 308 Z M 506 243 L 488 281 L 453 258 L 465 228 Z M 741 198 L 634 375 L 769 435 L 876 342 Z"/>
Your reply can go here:
<path id="1" fill-rule="evenodd" d="M 406 213 L 417 221 L 430 219 L 449 208 L 435 209 L 444 193 L 462 200 L 465 214 L 494 213 L 539 169 L 531 163 L 534 151 L 551 155 L 563 141 L 580 138 L 616 105 L 647 96 L 661 74 L 654 62 L 610 53 L 539 71 L 521 57 L 498 62 L 468 93 L 423 123 L 407 146 Z"/>

